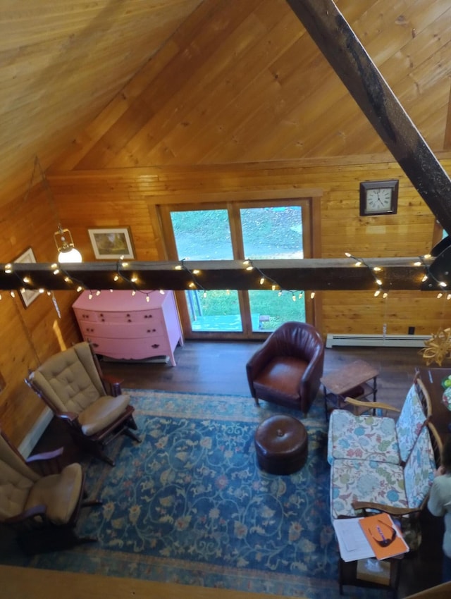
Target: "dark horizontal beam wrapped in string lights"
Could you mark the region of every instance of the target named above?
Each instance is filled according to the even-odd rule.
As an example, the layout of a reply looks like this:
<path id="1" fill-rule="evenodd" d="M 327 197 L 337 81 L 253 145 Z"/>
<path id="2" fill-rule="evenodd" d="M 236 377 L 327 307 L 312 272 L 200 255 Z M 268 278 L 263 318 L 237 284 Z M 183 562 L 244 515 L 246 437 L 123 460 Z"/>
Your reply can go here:
<path id="1" fill-rule="evenodd" d="M 431 259 L 375 258 L 365 259 L 362 266 L 344 259 L 254 260 L 247 270 L 239 260 L 184 262 L 83 262 L 61 265 L 54 274 L 51 264 L 0 264 L 0 289 L 20 288 L 74 290 L 78 285 L 91 290 L 104 289 L 271 289 L 283 290 L 437 290 L 438 280 L 422 283 Z M 416 265 L 415 265 L 416 263 Z M 373 268 L 382 270 L 375 273 Z M 6 272 L 11 267 L 11 272 Z M 199 273 L 194 272 L 199 270 Z M 132 278 L 136 277 L 136 283 Z M 115 280 L 115 278 L 117 280 Z M 261 279 L 264 283 L 261 284 Z M 24 283 L 28 281 L 27 283 Z M 192 286 L 194 285 L 194 287 Z"/>

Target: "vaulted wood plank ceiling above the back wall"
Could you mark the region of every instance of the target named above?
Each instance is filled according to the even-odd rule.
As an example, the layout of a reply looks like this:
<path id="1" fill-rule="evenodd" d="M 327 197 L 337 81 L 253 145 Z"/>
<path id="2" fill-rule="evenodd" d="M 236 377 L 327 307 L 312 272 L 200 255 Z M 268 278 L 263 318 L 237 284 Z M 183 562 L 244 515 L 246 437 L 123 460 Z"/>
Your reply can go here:
<path id="1" fill-rule="evenodd" d="M 336 4 L 433 152 L 447 149 L 450 2 Z M 100 163 L 90 168 L 385 151 L 285 0 L 5 0 L 0 33 L 2 203 L 25 190 L 35 155 L 44 168 L 89 163 L 73 144 L 89 142 L 86 126 L 114 109 L 118 94 L 133 101 L 127 83 L 146 66 L 147 77 L 152 69 L 158 76 L 147 106 L 136 107 L 139 134 L 122 123 L 122 147 L 96 140 Z M 209 55 L 197 56 L 206 37 Z M 180 52 L 189 76 L 174 80 Z M 159 122 L 166 115 L 163 130 L 152 130 L 156 111 Z M 142 135 L 155 137 L 151 152 Z"/>

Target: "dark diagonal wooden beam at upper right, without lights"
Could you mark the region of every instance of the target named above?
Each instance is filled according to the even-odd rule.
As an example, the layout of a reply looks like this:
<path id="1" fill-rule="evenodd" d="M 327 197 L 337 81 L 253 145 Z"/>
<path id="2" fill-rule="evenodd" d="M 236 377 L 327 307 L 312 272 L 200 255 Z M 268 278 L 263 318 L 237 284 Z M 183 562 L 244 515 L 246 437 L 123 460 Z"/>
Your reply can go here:
<path id="1" fill-rule="evenodd" d="M 449 176 L 333 0 L 287 2 L 441 226 L 451 233 Z"/>

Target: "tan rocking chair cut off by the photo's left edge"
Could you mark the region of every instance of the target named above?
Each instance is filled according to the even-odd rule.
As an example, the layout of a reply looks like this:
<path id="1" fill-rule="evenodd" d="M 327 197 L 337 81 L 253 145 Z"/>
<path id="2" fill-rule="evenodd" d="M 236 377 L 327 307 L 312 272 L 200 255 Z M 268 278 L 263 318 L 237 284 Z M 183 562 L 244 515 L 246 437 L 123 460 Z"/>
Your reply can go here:
<path id="1" fill-rule="evenodd" d="M 58 469 L 62 450 L 23 459 L 0 431 L 0 522 L 12 528 L 20 548 L 28 554 L 68 548 L 97 541 L 79 537 L 75 524 L 80 507 L 100 505 L 83 502 L 85 476 L 80 464 Z M 42 463 L 54 474 L 41 476 L 30 463 Z"/>

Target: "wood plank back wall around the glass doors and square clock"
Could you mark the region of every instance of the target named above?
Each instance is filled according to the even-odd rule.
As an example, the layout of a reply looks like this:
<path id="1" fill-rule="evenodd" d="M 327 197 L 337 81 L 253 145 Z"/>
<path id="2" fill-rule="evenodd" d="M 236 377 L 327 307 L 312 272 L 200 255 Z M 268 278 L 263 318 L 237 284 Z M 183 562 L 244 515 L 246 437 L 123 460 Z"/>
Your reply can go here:
<path id="1" fill-rule="evenodd" d="M 362 161 L 362 162 L 359 162 Z M 451 168 L 449 158 L 443 160 Z M 399 178 L 398 211 L 359 216 L 359 182 Z M 130 226 L 137 260 L 165 259 L 156 206 L 314 195 L 321 203 L 319 255 L 418 257 L 431 250 L 435 218 L 400 167 L 386 155 L 364 158 L 271 161 L 235 165 L 73 171 L 51 175 L 63 221 L 86 259 L 94 259 L 87 227 Z M 95 209 L 94 209 L 95 206 Z M 391 292 L 387 300 L 369 292 L 317 295 L 321 332 L 428 334 L 446 323 L 451 302 L 435 294 Z"/>

